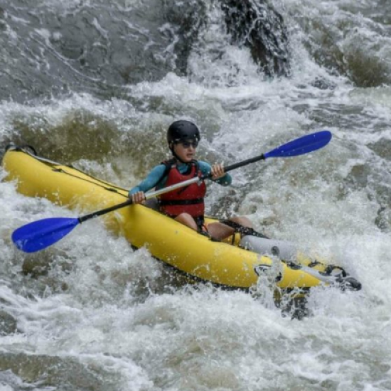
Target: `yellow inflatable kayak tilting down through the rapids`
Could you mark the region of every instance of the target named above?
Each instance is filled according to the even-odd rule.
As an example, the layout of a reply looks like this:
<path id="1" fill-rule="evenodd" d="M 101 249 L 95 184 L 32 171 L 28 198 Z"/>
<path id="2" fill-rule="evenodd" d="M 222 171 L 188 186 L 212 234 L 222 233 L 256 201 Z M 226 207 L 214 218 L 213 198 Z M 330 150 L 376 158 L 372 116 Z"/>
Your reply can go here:
<path id="1" fill-rule="evenodd" d="M 15 181 L 21 194 L 48 198 L 67 208 L 90 213 L 127 200 L 124 188 L 43 159 L 28 149 L 11 146 L 2 164 L 8 173 L 6 181 Z M 283 291 L 306 291 L 321 283 L 360 289 L 360 283 L 340 267 L 305 257 L 295 262 L 269 257 L 257 242 L 261 238 L 230 237 L 226 242 L 215 242 L 144 205 L 129 205 L 102 218 L 109 230 L 124 235 L 132 247 L 146 247 L 156 259 L 196 282 L 248 290 L 259 277 L 268 277 Z M 213 219 L 208 218 L 207 223 L 210 221 Z M 269 240 L 266 247 L 275 250 L 278 245 Z"/>

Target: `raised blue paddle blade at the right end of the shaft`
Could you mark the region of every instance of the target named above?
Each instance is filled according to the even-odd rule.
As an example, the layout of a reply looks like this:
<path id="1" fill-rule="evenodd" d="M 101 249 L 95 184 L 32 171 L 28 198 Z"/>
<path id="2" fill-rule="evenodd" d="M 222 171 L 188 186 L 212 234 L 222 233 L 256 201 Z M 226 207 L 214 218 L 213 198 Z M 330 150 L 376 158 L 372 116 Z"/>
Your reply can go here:
<path id="1" fill-rule="evenodd" d="M 323 146 L 327 145 L 330 140 L 331 132 L 328 132 L 328 130 L 307 134 L 306 136 L 289 141 L 289 143 L 267 152 L 267 154 L 264 154 L 264 159 L 277 157 L 284 158 L 308 154 L 309 152 L 316 151 L 316 149 L 323 148 Z"/>

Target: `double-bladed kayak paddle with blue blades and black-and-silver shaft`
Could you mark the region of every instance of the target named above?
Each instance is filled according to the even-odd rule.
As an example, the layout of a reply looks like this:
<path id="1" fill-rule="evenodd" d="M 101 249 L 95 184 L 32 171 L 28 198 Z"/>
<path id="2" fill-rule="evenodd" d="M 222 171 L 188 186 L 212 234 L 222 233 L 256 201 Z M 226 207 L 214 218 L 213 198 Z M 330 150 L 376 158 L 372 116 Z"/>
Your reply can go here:
<path id="1" fill-rule="evenodd" d="M 289 141 L 282 146 L 279 146 L 272 151 L 267 152 L 259 156 L 255 156 L 252 159 L 247 159 L 245 161 L 240 161 L 239 163 L 232 164 L 224 168 L 225 172 L 234 170 L 242 166 L 247 166 L 247 164 L 254 163 L 255 161 L 264 160 L 268 158 L 284 158 L 290 156 L 298 156 L 303 154 L 308 154 L 309 152 L 316 151 L 323 146 L 326 146 L 331 140 L 331 132 L 324 130 L 322 132 L 317 132 L 313 134 L 308 134 L 306 136 L 299 137 L 299 139 L 294 139 Z M 168 193 L 169 191 L 176 190 L 183 186 L 191 185 L 198 181 L 203 181 L 205 179 L 212 178 L 212 175 L 201 176 L 191 178 L 188 181 L 183 181 L 181 183 L 176 183 L 175 185 L 162 188 L 159 191 L 153 191 L 146 194 L 146 199 L 154 198 L 157 195 Z M 77 225 L 84 223 L 87 220 L 92 218 L 97 218 L 98 216 L 105 215 L 106 213 L 112 212 L 119 208 L 124 208 L 127 205 L 131 205 L 132 200 L 129 199 L 124 203 L 118 205 L 113 205 L 109 208 L 98 210 L 97 212 L 90 213 L 88 215 L 81 216 L 79 218 L 47 218 L 43 220 L 34 221 L 19 227 L 12 234 L 12 240 L 16 247 L 19 250 L 24 252 L 36 252 L 43 250 L 53 243 L 58 242 L 65 235 L 68 235 Z"/>

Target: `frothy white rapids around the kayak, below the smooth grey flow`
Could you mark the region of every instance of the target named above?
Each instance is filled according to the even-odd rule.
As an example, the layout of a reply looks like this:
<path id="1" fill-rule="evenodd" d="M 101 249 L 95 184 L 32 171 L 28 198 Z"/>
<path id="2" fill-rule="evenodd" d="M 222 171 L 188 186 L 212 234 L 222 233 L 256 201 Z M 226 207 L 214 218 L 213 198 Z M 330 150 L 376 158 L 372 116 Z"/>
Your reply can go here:
<path id="1" fill-rule="evenodd" d="M 58 144 L 56 159 L 69 148 L 66 159 L 125 187 L 165 158 L 166 127 L 179 117 L 200 126 L 201 157 L 227 164 L 329 129 L 333 140 L 321 151 L 239 170 L 232 188 L 210 186 L 208 208 L 247 215 L 257 228 L 341 264 L 363 284 L 360 292 L 315 289 L 312 316 L 297 321 L 282 316 L 267 291 L 255 298 L 176 286 L 145 249 L 132 251 L 97 220 L 45 252 L 23 255 L 11 245 L 16 227 L 75 212 L 25 198 L 13 183 L 1 182 L 0 302 L 18 328 L 0 338 L 1 390 L 391 389 L 390 205 L 383 195 L 390 193 L 391 159 L 370 147 L 391 141 L 391 90 L 355 87 L 328 73 L 309 55 L 299 16 L 292 16 L 317 21 L 327 12 L 333 30 L 341 18 L 351 19 L 344 6 L 370 3 L 281 1 L 294 58 L 289 79 L 262 80 L 248 51 L 228 45 L 210 63 L 213 47 L 225 42 L 210 23 L 188 78 L 170 73 L 129 85 L 124 100 L 75 94 L 1 103 L 1 140 L 21 132 L 38 139 L 45 153 Z M 210 12 L 213 21 L 217 11 Z M 375 34 L 370 23 L 360 28 Z M 317 78 L 335 88 L 311 86 Z M 68 133 L 73 121 L 86 124 L 80 134 Z M 94 132 L 97 144 L 90 141 Z M 110 151 L 101 152 L 107 143 Z M 26 262 L 52 267 L 25 276 Z M 59 361 L 50 364 L 48 357 Z"/>

